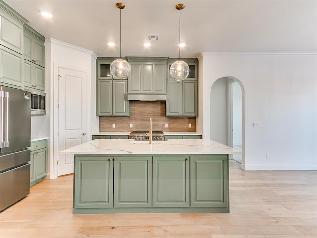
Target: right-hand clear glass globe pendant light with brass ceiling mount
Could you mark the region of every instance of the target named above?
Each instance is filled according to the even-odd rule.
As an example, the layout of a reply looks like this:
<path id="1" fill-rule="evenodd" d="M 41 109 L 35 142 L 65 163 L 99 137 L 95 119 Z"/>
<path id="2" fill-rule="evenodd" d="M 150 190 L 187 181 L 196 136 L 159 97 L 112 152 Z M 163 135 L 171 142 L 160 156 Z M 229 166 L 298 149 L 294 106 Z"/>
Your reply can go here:
<path id="1" fill-rule="evenodd" d="M 182 81 L 189 75 L 189 66 L 186 62 L 183 60 L 180 60 L 180 10 L 184 9 L 184 4 L 177 4 L 176 9 L 179 10 L 179 55 L 178 60 L 175 61 L 169 69 L 169 74 L 172 78 L 174 78 L 177 81 Z"/>

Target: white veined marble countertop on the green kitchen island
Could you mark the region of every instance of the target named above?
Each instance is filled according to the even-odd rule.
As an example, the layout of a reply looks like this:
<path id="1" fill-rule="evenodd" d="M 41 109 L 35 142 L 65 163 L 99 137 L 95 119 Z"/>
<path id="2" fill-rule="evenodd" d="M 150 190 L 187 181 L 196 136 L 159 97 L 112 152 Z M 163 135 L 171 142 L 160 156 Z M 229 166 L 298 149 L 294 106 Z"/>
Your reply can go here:
<path id="1" fill-rule="evenodd" d="M 212 140 L 188 139 L 133 141 L 130 139 L 93 140 L 67 150 L 61 154 L 75 155 L 176 155 L 176 154 L 241 154 L 233 148 Z"/>

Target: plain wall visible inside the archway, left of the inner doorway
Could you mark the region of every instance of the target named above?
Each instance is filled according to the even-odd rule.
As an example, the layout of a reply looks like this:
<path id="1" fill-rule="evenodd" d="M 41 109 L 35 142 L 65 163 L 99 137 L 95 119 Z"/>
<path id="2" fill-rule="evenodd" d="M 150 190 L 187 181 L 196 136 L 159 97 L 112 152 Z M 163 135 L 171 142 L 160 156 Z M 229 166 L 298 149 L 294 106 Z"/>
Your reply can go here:
<path id="1" fill-rule="evenodd" d="M 210 93 L 210 139 L 221 144 L 228 144 L 228 95 L 227 78 L 215 81 Z"/>

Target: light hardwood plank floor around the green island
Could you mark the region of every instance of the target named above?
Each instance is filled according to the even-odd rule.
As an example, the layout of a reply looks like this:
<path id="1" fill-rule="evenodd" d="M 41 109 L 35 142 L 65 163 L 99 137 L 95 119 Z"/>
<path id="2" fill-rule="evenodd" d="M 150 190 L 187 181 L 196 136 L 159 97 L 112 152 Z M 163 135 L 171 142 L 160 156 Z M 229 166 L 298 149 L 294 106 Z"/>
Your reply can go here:
<path id="1" fill-rule="evenodd" d="M 230 213 L 72 214 L 73 176 L 42 181 L 0 213 L 0 238 L 317 238 L 316 171 L 230 161 Z"/>

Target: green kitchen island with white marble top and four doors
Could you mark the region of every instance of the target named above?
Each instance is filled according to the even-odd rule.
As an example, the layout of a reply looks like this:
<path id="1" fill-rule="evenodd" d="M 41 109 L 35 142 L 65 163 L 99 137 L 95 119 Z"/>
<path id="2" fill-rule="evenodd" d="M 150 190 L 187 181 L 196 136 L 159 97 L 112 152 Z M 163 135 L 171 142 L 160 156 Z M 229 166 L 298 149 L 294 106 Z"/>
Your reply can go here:
<path id="1" fill-rule="evenodd" d="M 97 139 L 74 154 L 74 214 L 229 212 L 228 155 L 210 140 Z"/>

